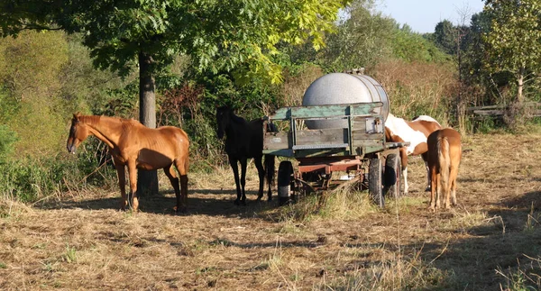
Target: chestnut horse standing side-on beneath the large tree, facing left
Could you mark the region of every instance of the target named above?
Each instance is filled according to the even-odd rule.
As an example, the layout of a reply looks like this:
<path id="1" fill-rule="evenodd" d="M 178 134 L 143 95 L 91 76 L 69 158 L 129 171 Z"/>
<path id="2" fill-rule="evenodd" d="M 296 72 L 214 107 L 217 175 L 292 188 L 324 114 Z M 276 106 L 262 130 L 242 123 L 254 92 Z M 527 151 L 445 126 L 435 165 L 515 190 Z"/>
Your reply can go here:
<path id="1" fill-rule="evenodd" d="M 68 151 L 75 153 L 78 145 L 88 135 L 94 135 L 109 147 L 115 162 L 118 185 L 122 200 L 122 210 L 128 205 L 125 191 L 125 166 L 128 166 L 130 188 L 132 189 L 133 211 L 137 211 L 137 169 L 153 170 L 163 168 L 175 189 L 176 211 L 186 211 L 188 207 L 188 135 L 173 126 L 150 129 L 133 119 L 108 116 L 73 114 Z M 173 165 L 179 171 L 179 178 Z"/>

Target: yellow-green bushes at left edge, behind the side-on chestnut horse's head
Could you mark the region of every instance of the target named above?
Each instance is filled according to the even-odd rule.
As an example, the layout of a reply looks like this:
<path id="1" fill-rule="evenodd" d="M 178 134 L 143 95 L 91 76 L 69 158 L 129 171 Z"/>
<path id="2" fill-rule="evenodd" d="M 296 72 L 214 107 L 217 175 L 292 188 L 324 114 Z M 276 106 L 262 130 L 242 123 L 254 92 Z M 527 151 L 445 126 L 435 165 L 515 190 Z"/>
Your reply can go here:
<path id="1" fill-rule="evenodd" d="M 0 40 L 0 195 L 36 201 L 68 186 L 104 186 L 115 170 L 96 168 L 103 145 L 87 141 L 80 159 L 65 159 L 68 120 L 90 111 L 122 85 L 92 68 L 76 35 L 22 32 Z M 91 139 L 92 140 L 92 139 Z M 70 156 L 71 157 L 71 156 Z"/>

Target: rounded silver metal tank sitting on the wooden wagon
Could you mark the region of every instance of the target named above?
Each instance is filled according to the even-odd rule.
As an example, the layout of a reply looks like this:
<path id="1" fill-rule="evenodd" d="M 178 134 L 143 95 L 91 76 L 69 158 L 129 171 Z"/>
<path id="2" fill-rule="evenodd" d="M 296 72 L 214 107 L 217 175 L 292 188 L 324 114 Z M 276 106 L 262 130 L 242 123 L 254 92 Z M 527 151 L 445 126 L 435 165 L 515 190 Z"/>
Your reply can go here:
<path id="1" fill-rule="evenodd" d="M 362 74 L 332 73 L 319 77 L 302 99 L 303 106 L 381 102 L 379 114 L 387 120 L 389 98 L 380 83 Z M 346 120 L 306 121 L 309 129 L 346 128 Z"/>

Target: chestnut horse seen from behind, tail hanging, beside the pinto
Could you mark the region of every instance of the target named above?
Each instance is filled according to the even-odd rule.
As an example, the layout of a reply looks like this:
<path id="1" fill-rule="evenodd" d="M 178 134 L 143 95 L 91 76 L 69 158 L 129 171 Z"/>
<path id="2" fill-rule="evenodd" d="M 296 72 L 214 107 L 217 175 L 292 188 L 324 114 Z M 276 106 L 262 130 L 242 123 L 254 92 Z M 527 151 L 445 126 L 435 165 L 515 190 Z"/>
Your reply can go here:
<path id="1" fill-rule="evenodd" d="M 436 211 L 440 207 L 440 197 L 443 196 L 445 209 L 449 209 L 451 203 L 456 205 L 456 177 L 462 159 L 460 133 L 445 128 L 432 132 L 426 142 L 431 185 L 428 210 Z"/>

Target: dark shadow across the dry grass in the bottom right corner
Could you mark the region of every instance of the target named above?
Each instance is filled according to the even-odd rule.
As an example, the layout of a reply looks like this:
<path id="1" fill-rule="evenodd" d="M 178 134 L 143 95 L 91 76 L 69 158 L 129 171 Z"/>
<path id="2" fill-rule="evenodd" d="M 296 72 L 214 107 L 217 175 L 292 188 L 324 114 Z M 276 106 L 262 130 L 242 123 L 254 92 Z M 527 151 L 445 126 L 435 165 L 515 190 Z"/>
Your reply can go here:
<path id="1" fill-rule="evenodd" d="M 495 210 L 487 212 L 483 225 L 464 228 L 465 239 L 416 241 L 400 248 L 445 271 L 448 280 L 438 282 L 436 289 L 509 290 L 512 286 L 508 277 L 519 273 L 526 276 L 515 280 L 523 280 L 525 286 L 538 289 L 541 287 L 541 209 L 535 205 L 541 205 L 539 191 L 487 205 Z M 448 216 L 437 215 L 440 220 Z M 396 246 L 384 247 L 398 251 Z"/>

